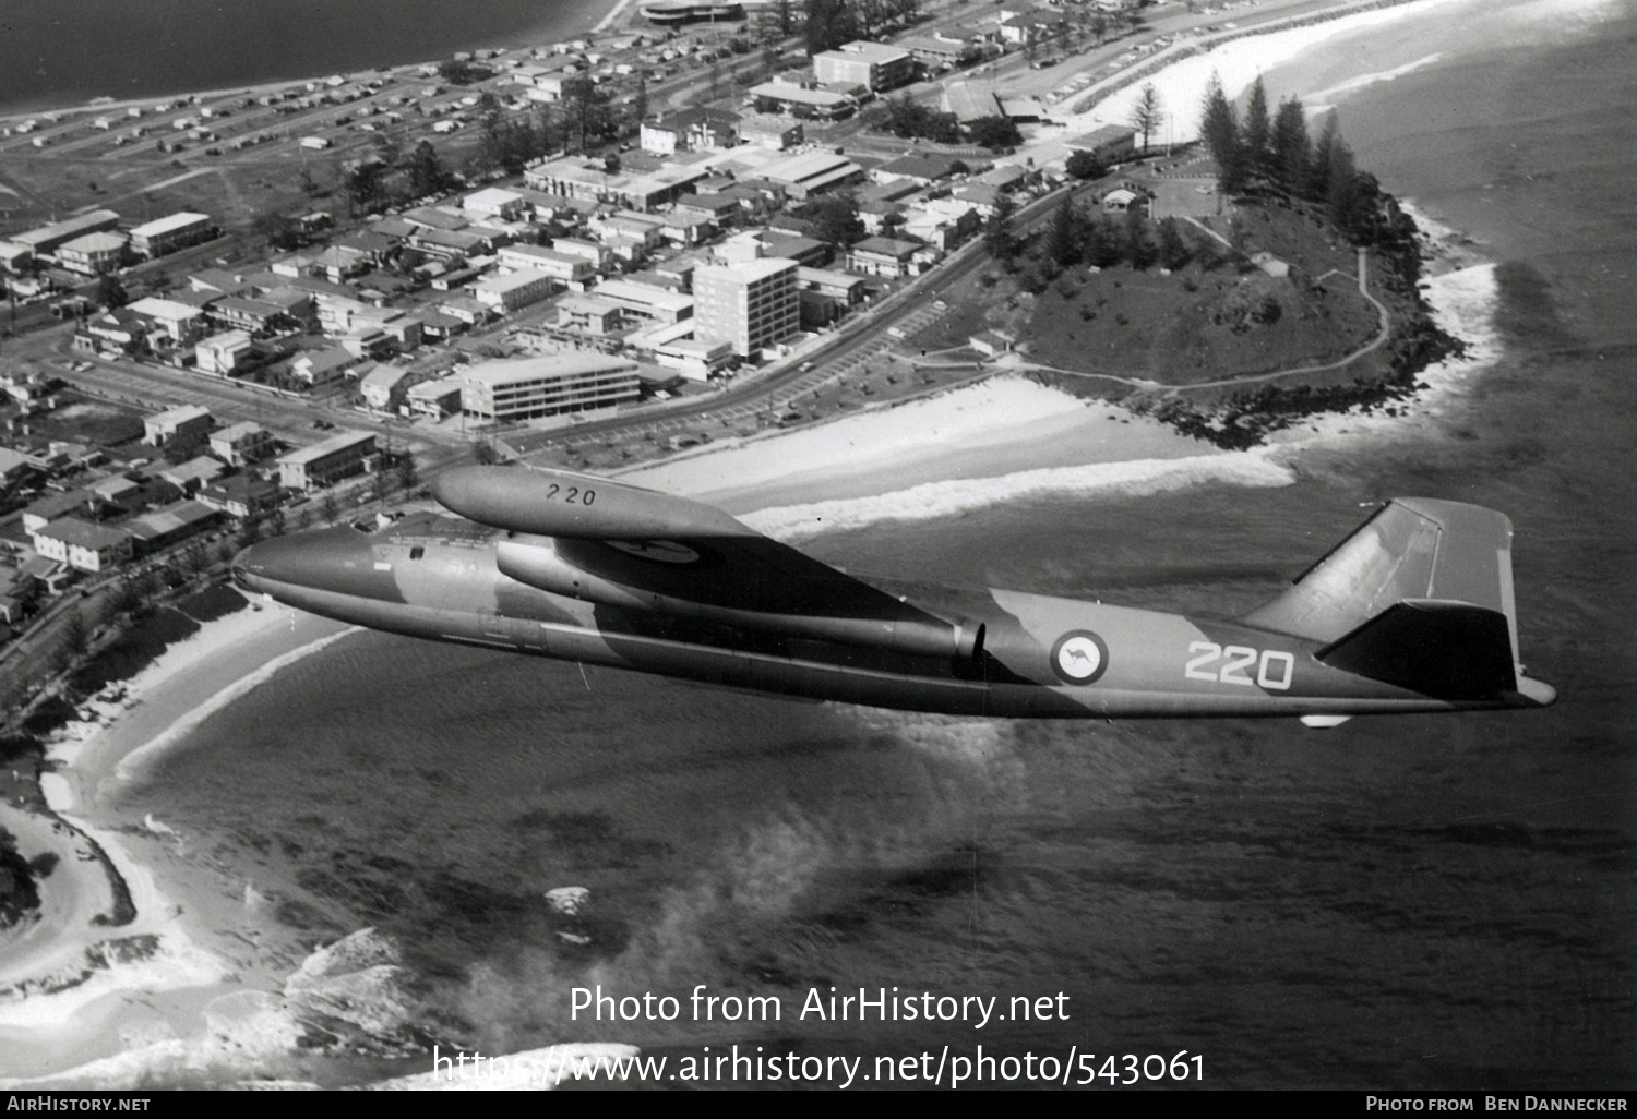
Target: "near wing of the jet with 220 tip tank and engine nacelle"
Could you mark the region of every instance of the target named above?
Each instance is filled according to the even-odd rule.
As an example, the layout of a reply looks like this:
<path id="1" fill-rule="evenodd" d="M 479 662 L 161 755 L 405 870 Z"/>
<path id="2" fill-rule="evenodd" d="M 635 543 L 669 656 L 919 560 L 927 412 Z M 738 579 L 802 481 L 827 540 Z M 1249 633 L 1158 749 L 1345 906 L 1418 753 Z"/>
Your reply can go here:
<path id="1" fill-rule="evenodd" d="M 432 491 L 504 528 L 499 569 L 540 591 L 902 653 L 982 649 L 981 625 L 928 613 L 688 497 L 516 466 L 445 471 Z"/>

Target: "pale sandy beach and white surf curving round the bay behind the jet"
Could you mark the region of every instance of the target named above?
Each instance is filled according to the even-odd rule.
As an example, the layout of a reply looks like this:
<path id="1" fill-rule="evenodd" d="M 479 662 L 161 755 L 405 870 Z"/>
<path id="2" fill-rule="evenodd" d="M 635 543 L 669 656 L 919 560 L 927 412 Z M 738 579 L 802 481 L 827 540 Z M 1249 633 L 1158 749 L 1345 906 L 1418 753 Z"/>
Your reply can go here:
<path id="1" fill-rule="evenodd" d="M 1418 213 L 1416 221 L 1424 232 L 1429 231 L 1431 222 L 1423 214 Z M 1470 348 L 1465 358 L 1441 363 L 1419 376 L 1427 388 L 1408 401 L 1414 422 L 1423 422 L 1423 416 L 1431 422 L 1442 409 L 1457 404 L 1475 371 L 1493 362 L 1496 350 L 1485 347 L 1498 347 L 1493 337 L 1480 339 L 1478 345 L 1472 345 L 1470 337 L 1485 322 L 1486 301 L 1493 303 L 1493 265 L 1483 263 L 1452 231 L 1436 231 L 1429 240 L 1454 245 L 1455 255 L 1442 265 L 1427 260 L 1429 299 L 1441 319 L 1447 316 L 1445 329 L 1467 339 Z M 989 396 L 981 396 L 981 391 Z M 963 398 L 961 393 L 972 396 Z M 1062 401 L 1039 396 L 1048 393 Z M 938 461 L 938 448 L 948 455 L 951 438 L 963 440 L 956 481 L 967 484 L 959 492 L 966 494 L 963 499 L 982 504 L 995 501 L 1003 484 L 1039 483 L 1074 491 L 1131 484 L 1131 470 L 1118 476 L 1121 471 L 1113 468 L 1134 468 L 1138 463 L 1159 463 L 1144 466 L 1144 476 L 1170 473 L 1179 484 L 1193 484 L 1221 478 L 1223 471 L 1239 470 L 1241 463 L 1256 458 L 1267 465 L 1265 471 L 1229 481 L 1257 484 L 1244 478 L 1260 476 L 1265 484 L 1288 484 L 1278 481 L 1277 471 L 1293 479 L 1300 452 L 1315 442 L 1334 445 L 1339 438 L 1396 437 L 1413 430 L 1406 416 L 1354 409 L 1308 417 L 1295 429 L 1275 434 L 1270 447 L 1260 452 L 1220 452 L 1125 409 L 1077 399 L 1069 404 L 1069 399 L 1030 381 L 995 378 L 933 401 L 848 416 L 815 429 L 637 468 L 625 478 L 710 496 L 730 510 L 751 514 L 751 522 L 763 530 L 800 537 L 804 524 L 817 515 L 828 517 L 825 528 L 895 519 L 905 510 L 949 515 L 953 506 L 943 501 L 953 501 L 949 491 L 935 494 L 918 486 L 931 484 L 935 471 L 941 471 L 946 481 L 951 478 L 951 463 Z M 927 411 L 935 406 L 943 411 Z M 1082 437 L 1095 435 L 1098 424 L 1118 435 L 1085 442 Z M 1049 438 L 1041 438 L 1043 429 L 1049 430 Z M 841 470 L 833 461 L 838 453 L 846 455 Z M 1025 478 L 1036 471 L 1066 470 L 1082 473 L 1056 479 Z M 848 510 L 856 514 L 853 522 L 841 515 Z M 324 627 L 336 631 L 324 631 Z M 182 872 L 196 874 L 196 865 L 174 857 L 187 838 L 169 831 L 164 821 L 121 810 L 111 802 L 139 782 L 165 749 L 182 744 L 211 712 L 293 663 L 286 658 L 309 656 L 342 636 L 345 630 L 336 623 L 295 615 L 283 607 L 267 607 L 254 615 L 241 612 L 206 623 L 201 633 L 174 646 L 129 682 L 131 703 L 110 725 L 85 739 L 65 738 L 52 746 L 51 759 L 59 769 L 43 780 L 52 808 L 103 844 L 138 901 L 138 921 L 118 929 L 118 934 L 152 931 L 162 949 L 151 960 L 108 968 L 106 983 L 98 977 L 82 985 L 83 990 L 0 1003 L 0 1039 L 11 1050 L 10 1057 L 0 1058 L 0 1083 L 18 1075 L 33 1080 L 43 1075 L 43 1063 L 64 1068 L 106 1057 L 106 1040 L 121 1032 L 147 1042 L 162 1040 L 162 1031 L 182 1032 L 178 1022 L 196 1021 L 210 1000 L 255 985 L 273 985 L 288 972 L 288 967 L 280 970 L 288 960 L 268 959 L 254 947 L 249 954 L 246 950 L 255 939 L 247 941 L 247 934 L 239 931 L 246 926 L 254 929 L 254 888 L 249 883 L 236 897 L 226 879 L 211 883 L 190 880 Z M 178 656 L 170 659 L 172 653 Z M 201 695 L 208 697 L 203 703 L 196 699 Z M 56 885 L 49 879 L 44 882 L 47 888 Z M 170 908 L 178 911 L 170 913 Z M 162 1009 L 147 1013 L 131 1003 L 120 1006 L 129 993 L 157 996 Z M 26 1014 L 23 1008 L 28 1008 Z M 129 1024 L 116 1029 L 113 1022 Z M 51 1034 L 54 1037 L 47 1037 Z M 23 1052 L 28 1045 L 34 1047 L 31 1054 Z M 29 1060 L 33 1068 L 13 1067 L 13 1062 Z"/>

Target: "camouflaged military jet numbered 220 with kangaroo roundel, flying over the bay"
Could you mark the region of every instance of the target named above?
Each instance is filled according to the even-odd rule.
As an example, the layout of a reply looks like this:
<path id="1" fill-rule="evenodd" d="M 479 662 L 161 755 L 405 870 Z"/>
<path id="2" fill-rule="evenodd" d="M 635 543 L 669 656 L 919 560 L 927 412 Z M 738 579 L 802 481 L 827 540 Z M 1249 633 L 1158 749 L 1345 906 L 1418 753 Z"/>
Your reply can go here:
<path id="1" fill-rule="evenodd" d="M 1511 522 L 1396 499 L 1270 602 L 1208 620 L 845 574 L 728 514 L 588 474 L 468 466 L 427 512 L 280 537 L 237 581 L 439 641 L 874 707 L 1023 718 L 1545 707 L 1517 663 Z"/>

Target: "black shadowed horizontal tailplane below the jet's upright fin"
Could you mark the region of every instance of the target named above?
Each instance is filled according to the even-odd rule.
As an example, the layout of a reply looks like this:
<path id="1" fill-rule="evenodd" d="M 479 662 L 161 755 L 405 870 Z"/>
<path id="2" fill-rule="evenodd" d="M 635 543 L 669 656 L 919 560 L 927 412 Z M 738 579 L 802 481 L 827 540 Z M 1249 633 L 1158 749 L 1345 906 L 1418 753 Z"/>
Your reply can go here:
<path id="1" fill-rule="evenodd" d="M 1517 690 L 1506 615 L 1470 602 L 1395 602 L 1316 656 L 1344 672 L 1437 699 Z"/>

